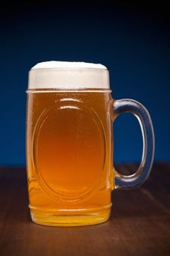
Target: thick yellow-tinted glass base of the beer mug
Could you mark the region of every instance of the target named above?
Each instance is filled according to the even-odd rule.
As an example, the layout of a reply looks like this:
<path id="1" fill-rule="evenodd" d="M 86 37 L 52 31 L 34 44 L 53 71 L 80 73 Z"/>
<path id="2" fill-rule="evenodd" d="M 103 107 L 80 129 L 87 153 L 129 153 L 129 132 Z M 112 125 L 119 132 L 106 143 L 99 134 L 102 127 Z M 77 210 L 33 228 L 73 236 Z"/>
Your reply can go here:
<path id="1" fill-rule="evenodd" d="M 96 225 L 109 219 L 110 210 L 99 214 L 84 215 L 58 215 L 58 214 L 35 214 L 31 211 L 31 219 L 36 224 L 58 227 L 74 227 Z"/>

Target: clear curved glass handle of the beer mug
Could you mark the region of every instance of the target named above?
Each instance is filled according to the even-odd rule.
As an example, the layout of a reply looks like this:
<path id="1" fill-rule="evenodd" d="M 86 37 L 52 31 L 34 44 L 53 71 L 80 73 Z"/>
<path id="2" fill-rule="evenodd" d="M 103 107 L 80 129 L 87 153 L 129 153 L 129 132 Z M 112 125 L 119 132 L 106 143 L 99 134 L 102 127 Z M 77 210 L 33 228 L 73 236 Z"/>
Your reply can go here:
<path id="1" fill-rule="evenodd" d="M 121 113 L 130 112 L 139 121 L 142 139 L 143 153 L 142 161 L 136 173 L 130 176 L 123 176 L 115 171 L 115 189 L 132 189 L 138 187 L 147 179 L 152 167 L 155 138 L 150 114 L 144 106 L 134 99 L 118 99 L 113 103 L 115 118 Z"/>

